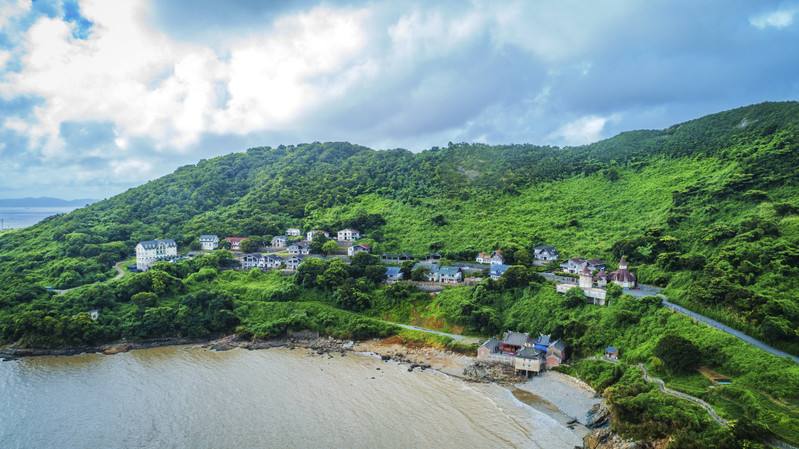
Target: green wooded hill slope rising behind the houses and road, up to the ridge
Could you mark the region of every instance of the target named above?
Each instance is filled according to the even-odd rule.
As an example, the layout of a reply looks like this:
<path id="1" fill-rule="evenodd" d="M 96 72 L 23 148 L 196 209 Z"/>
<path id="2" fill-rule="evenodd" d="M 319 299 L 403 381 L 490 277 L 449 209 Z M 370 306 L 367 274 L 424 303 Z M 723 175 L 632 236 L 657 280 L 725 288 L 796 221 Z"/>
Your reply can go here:
<path id="1" fill-rule="evenodd" d="M 365 231 L 375 250 L 519 262 L 626 254 L 644 282 L 799 349 L 799 103 L 763 103 L 591 145 L 252 148 L 0 235 L 0 307 L 109 278 L 137 241 L 287 226 Z"/>

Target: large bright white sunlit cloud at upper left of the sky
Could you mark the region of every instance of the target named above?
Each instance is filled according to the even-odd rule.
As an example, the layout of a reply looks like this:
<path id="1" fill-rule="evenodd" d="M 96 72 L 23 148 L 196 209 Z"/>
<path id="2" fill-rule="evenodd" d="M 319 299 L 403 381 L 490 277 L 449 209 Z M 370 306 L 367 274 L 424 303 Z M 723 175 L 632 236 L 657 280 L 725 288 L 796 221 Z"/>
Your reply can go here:
<path id="1" fill-rule="evenodd" d="M 48 158 L 64 155 L 59 130 L 69 121 L 110 121 L 118 145 L 144 137 L 164 150 L 208 132 L 285 127 L 357 81 L 347 66 L 367 43 L 359 10 L 283 17 L 232 43 L 229 57 L 153 29 L 137 1 L 85 1 L 81 11 L 94 23 L 87 40 L 40 18 L 25 33 L 22 70 L 0 82 L 0 96 L 44 99 L 25 131 Z"/>

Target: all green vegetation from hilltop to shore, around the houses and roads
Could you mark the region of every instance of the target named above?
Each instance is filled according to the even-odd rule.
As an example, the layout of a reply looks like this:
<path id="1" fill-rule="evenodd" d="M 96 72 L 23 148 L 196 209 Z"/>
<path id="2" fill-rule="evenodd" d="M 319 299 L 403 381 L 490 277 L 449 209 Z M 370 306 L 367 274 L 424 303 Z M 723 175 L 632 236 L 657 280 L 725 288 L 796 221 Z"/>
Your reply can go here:
<path id="1" fill-rule="evenodd" d="M 405 283 L 383 285 L 384 268 L 366 254 L 352 264 L 310 259 L 283 276 L 230 270 L 230 253 L 217 251 L 111 280 L 140 240 L 174 238 L 183 252 L 197 248 L 200 234 L 269 240 L 289 226 L 356 227 L 378 253 L 464 260 L 503 249 L 514 267 L 499 281 L 433 298 Z M 315 142 L 203 160 L 0 233 L 0 344 L 312 329 L 469 350 L 390 322 L 481 336 L 549 332 L 567 340 L 575 358 L 623 348 L 618 366 L 586 358 L 568 369 L 603 392 L 627 436 L 667 438 L 669 447 L 760 447 L 774 436 L 799 443 L 795 364 L 655 298 L 611 289 L 610 305 L 600 308 L 556 295 L 527 268 L 540 243 L 611 267 L 625 255 L 640 281 L 665 287 L 674 301 L 799 353 L 799 103 L 743 107 L 581 147 L 450 143 L 412 153 Z M 733 424 L 720 428 L 703 410 L 661 394 L 642 381 L 638 364 Z M 697 373 L 700 365 L 733 384 L 716 388 Z"/>

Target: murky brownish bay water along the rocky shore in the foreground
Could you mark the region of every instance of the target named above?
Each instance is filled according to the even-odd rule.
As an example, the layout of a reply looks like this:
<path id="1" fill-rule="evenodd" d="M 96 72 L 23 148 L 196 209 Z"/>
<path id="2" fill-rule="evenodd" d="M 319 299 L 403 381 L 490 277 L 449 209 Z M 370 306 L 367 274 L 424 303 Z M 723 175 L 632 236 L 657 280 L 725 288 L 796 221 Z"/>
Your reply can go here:
<path id="1" fill-rule="evenodd" d="M 0 442 L 7 449 L 581 444 L 493 384 L 408 372 L 368 355 L 188 346 L 0 362 Z"/>

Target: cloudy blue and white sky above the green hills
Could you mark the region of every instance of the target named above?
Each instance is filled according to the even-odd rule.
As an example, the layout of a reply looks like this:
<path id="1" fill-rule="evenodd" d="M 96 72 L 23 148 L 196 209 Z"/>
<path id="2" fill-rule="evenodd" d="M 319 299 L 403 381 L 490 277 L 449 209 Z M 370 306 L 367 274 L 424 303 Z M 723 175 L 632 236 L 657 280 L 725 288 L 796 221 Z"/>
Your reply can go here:
<path id="1" fill-rule="evenodd" d="M 0 198 L 255 146 L 581 145 L 799 98 L 799 0 L 0 0 Z"/>

